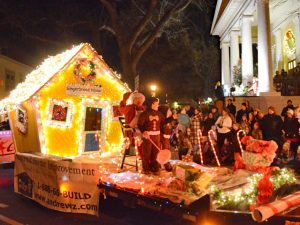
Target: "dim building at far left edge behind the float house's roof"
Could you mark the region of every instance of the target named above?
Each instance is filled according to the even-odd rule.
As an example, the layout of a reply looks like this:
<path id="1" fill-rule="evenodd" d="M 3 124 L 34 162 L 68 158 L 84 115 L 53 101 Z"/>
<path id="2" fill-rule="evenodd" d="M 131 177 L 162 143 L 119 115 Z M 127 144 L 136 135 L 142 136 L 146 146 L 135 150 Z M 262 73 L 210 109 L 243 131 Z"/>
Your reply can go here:
<path id="1" fill-rule="evenodd" d="M 0 55 L 0 99 L 7 97 L 31 70 L 30 66 Z"/>

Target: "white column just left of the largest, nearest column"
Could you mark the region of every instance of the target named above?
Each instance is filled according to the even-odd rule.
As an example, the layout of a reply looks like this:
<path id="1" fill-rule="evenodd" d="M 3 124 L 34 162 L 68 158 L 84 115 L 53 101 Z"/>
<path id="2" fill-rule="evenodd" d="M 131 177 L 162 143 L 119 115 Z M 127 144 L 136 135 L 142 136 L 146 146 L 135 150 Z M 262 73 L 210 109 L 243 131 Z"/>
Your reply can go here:
<path id="1" fill-rule="evenodd" d="M 242 81 L 247 85 L 253 78 L 253 51 L 251 23 L 253 16 L 243 15 L 242 17 Z"/>

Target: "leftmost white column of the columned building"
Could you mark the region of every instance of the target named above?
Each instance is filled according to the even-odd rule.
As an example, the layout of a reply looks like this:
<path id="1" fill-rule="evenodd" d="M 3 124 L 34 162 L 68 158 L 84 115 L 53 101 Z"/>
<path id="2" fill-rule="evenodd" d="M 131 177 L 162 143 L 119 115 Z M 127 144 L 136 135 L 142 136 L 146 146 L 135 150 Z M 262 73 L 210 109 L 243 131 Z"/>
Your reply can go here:
<path id="1" fill-rule="evenodd" d="M 229 90 L 231 88 L 231 79 L 230 79 L 230 65 L 229 65 L 229 43 L 221 43 L 222 50 L 222 84 L 224 89 Z"/>

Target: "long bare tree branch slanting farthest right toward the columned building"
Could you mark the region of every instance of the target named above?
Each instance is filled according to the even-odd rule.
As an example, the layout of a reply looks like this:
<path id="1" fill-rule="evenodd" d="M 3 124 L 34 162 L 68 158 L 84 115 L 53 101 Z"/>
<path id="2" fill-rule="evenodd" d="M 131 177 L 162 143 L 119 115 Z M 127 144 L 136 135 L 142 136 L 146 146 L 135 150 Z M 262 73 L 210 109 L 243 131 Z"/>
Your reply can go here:
<path id="1" fill-rule="evenodd" d="M 164 25 L 167 23 L 167 21 L 171 18 L 171 16 L 176 13 L 180 12 L 183 9 L 185 9 L 192 0 L 178 0 L 177 3 L 165 13 L 165 15 L 161 18 L 161 20 L 156 25 L 153 32 L 150 34 L 150 36 L 146 39 L 146 41 L 137 49 L 135 54 L 133 55 L 133 63 L 137 64 L 137 62 L 140 60 L 142 55 L 145 53 L 145 51 L 151 46 L 153 41 L 156 39 L 157 35 L 160 33 L 160 31 L 163 29 Z"/>

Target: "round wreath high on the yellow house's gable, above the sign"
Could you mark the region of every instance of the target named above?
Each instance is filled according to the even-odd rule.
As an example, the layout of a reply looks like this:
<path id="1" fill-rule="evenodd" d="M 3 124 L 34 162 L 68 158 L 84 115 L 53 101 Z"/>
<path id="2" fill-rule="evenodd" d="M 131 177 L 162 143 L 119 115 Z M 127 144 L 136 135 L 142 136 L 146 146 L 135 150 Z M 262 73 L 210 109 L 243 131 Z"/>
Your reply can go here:
<path id="1" fill-rule="evenodd" d="M 79 82 L 88 83 L 96 78 L 96 64 L 92 61 L 81 58 L 76 61 L 74 75 Z"/>

